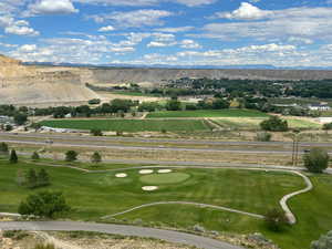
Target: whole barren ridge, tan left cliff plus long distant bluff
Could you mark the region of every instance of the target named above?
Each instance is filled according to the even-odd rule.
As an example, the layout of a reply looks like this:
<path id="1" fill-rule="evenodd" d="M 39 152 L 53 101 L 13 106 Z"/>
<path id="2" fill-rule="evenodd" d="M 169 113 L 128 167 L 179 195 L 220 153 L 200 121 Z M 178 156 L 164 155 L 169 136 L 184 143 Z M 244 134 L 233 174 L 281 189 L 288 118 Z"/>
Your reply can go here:
<path id="1" fill-rule="evenodd" d="M 0 54 L 0 104 L 81 103 L 98 97 L 85 83 L 160 84 L 180 77 L 323 80 L 332 79 L 332 71 L 28 66 Z"/>

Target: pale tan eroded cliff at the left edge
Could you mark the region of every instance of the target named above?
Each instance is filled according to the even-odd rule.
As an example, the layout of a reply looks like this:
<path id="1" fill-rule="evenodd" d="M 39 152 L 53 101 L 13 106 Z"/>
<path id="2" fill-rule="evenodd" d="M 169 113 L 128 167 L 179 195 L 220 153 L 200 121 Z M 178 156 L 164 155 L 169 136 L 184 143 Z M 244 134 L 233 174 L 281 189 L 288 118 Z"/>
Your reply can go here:
<path id="1" fill-rule="evenodd" d="M 98 97 L 65 68 L 25 66 L 0 55 L 0 104 L 85 102 Z"/>

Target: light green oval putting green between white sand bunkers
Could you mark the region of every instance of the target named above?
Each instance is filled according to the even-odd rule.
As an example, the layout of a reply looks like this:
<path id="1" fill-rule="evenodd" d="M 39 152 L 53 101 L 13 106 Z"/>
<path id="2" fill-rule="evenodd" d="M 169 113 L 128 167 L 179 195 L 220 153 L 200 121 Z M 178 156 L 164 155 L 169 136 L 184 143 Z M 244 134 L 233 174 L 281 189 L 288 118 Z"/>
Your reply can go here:
<path id="1" fill-rule="evenodd" d="M 181 183 L 188 179 L 190 175 L 185 173 L 169 173 L 141 176 L 139 180 L 144 184 L 160 185 Z"/>

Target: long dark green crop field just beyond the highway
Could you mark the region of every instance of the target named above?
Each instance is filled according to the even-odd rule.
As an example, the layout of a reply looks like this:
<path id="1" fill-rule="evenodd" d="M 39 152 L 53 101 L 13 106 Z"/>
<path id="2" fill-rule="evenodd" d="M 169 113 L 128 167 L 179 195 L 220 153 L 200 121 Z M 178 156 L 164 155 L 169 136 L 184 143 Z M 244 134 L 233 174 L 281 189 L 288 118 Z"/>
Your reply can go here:
<path id="1" fill-rule="evenodd" d="M 52 120 L 43 121 L 41 125 L 56 128 L 102 129 L 116 132 L 180 132 L 207 131 L 204 121 L 196 120 Z"/>

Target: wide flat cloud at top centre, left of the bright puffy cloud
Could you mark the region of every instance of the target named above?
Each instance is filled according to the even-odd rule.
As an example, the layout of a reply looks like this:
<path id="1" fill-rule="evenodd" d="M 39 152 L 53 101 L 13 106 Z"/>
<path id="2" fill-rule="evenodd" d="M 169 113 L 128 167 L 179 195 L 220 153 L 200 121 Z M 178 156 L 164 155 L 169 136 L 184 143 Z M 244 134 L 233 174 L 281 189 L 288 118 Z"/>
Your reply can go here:
<path id="1" fill-rule="evenodd" d="M 143 27 L 160 25 L 164 22 L 162 18 L 170 17 L 172 13 L 165 10 L 143 9 L 127 12 L 112 12 L 110 14 L 91 15 L 96 22 L 107 20 L 116 22 L 120 27 Z"/>

